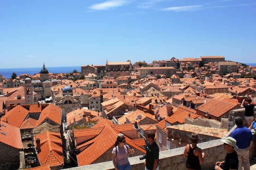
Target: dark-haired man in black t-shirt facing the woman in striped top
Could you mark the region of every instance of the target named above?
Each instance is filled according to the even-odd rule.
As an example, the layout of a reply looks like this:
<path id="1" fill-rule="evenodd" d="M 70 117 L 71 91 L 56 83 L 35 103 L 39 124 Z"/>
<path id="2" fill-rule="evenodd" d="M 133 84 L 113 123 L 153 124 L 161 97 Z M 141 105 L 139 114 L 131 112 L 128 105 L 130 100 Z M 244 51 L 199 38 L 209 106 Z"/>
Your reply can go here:
<path id="1" fill-rule="evenodd" d="M 158 170 L 159 148 L 155 143 L 155 133 L 146 132 L 148 144 L 146 146 L 146 161 L 144 162 L 145 170 Z"/>

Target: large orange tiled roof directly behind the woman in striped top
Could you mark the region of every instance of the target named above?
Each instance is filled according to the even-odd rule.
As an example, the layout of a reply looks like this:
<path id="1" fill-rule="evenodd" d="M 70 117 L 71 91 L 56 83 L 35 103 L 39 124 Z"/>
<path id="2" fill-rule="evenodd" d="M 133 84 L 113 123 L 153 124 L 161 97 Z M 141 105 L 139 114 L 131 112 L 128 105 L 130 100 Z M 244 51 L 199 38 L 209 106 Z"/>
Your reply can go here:
<path id="1" fill-rule="evenodd" d="M 114 147 L 116 137 L 120 133 L 112 127 L 112 123 L 102 117 L 98 118 L 97 124 L 93 128 L 104 127 L 102 132 L 97 135 L 92 144 L 77 155 L 78 166 L 89 165 L 97 160 L 102 154 Z M 131 142 L 131 139 L 126 138 L 126 143 L 134 149 L 146 153 L 144 149 Z"/>

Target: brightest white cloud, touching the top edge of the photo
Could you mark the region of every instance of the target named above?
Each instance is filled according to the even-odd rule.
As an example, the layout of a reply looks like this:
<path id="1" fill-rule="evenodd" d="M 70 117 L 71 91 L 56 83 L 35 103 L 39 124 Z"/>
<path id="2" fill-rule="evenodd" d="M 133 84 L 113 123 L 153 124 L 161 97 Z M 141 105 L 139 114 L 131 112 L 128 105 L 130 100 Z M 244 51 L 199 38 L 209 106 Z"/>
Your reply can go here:
<path id="1" fill-rule="evenodd" d="M 128 4 L 127 0 L 110 0 L 89 6 L 90 10 L 108 10 Z"/>

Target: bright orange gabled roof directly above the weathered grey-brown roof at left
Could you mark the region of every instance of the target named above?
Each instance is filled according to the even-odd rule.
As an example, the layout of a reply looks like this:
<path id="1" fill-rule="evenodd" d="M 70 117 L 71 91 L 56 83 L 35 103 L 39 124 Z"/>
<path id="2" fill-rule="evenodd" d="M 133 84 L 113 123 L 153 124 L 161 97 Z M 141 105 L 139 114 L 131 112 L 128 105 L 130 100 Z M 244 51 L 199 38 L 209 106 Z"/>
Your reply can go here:
<path id="1" fill-rule="evenodd" d="M 40 125 L 46 118 L 54 121 L 56 124 L 61 124 L 61 108 L 55 106 L 54 104 L 49 104 L 44 108 L 40 114 L 38 125 Z"/>

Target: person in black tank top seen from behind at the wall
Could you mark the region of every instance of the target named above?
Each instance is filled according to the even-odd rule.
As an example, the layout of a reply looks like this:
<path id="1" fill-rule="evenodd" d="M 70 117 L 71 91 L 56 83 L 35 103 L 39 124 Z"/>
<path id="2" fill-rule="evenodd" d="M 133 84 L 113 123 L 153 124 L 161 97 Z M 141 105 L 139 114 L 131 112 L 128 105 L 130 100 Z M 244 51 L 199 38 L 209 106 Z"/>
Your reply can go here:
<path id="1" fill-rule="evenodd" d="M 185 147 L 183 156 L 188 157 L 186 162 L 186 167 L 189 170 L 201 170 L 200 163 L 203 163 L 204 153 L 196 145 L 199 141 L 199 136 L 196 133 L 193 133 L 190 136 L 192 144 L 188 144 Z"/>

